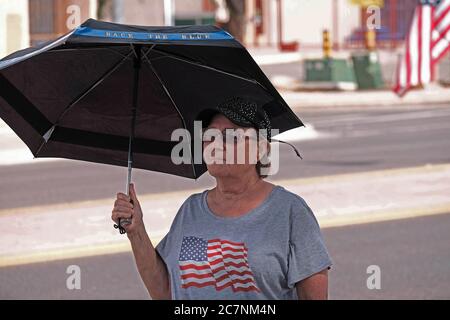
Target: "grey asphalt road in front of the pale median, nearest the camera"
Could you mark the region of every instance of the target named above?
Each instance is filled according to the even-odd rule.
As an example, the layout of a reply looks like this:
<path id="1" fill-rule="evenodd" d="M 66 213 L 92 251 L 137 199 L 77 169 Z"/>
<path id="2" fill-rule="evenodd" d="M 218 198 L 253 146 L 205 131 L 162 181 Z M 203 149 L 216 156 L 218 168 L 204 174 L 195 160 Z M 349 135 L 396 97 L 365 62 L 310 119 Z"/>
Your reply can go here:
<path id="1" fill-rule="evenodd" d="M 323 229 L 334 266 L 330 299 L 450 299 L 450 213 Z M 69 265 L 81 289 L 68 290 Z M 368 289 L 367 268 L 380 268 Z M 131 254 L 0 268 L 0 299 L 148 299 Z"/>

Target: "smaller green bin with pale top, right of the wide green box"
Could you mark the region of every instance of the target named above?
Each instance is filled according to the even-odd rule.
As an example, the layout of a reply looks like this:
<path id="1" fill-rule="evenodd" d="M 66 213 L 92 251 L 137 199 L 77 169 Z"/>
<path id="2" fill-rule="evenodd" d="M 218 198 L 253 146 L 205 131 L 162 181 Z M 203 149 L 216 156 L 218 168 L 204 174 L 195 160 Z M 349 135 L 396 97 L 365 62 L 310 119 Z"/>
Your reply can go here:
<path id="1" fill-rule="evenodd" d="M 380 60 L 375 51 L 353 53 L 352 61 L 358 89 L 384 88 Z"/>

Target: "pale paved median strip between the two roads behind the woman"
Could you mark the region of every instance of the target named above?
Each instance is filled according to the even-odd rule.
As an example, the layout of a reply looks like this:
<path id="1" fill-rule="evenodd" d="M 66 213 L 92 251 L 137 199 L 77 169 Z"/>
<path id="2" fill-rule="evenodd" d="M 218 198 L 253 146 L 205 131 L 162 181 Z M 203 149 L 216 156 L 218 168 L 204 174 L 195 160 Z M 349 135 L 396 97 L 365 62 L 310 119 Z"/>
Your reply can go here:
<path id="1" fill-rule="evenodd" d="M 322 227 L 450 212 L 450 164 L 275 181 L 302 196 Z M 156 244 L 201 190 L 140 195 Z M 110 220 L 114 199 L 0 211 L 0 267 L 130 250 Z"/>

